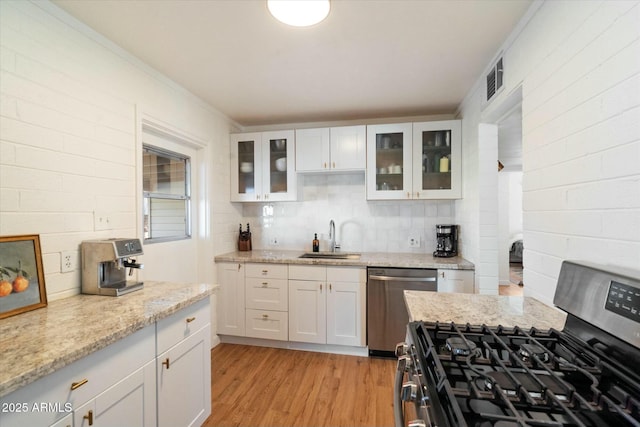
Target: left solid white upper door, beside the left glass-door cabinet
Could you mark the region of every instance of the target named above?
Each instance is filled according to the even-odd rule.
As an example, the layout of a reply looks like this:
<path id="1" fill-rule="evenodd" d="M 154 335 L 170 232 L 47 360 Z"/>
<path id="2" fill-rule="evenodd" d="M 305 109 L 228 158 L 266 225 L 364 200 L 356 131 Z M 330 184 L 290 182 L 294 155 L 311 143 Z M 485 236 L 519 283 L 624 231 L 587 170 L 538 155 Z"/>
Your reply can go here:
<path id="1" fill-rule="evenodd" d="M 296 130 L 296 171 L 322 172 L 331 167 L 329 128 Z"/>

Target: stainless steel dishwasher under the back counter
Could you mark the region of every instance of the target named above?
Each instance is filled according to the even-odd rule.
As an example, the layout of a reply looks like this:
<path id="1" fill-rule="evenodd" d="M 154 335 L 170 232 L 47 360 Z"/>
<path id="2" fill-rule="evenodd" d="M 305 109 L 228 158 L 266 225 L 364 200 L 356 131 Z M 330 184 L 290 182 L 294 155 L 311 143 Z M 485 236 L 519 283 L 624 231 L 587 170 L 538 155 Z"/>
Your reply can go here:
<path id="1" fill-rule="evenodd" d="M 367 269 L 367 344 L 370 356 L 394 357 L 403 342 L 409 315 L 403 292 L 437 291 L 437 270 L 408 268 Z"/>

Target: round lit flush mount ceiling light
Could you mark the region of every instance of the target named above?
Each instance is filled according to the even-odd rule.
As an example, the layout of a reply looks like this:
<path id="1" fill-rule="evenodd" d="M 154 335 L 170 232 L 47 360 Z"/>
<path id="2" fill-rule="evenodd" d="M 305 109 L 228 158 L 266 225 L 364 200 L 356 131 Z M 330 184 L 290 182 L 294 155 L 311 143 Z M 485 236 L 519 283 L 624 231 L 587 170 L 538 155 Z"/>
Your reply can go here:
<path id="1" fill-rule="evenodd" d="M 329 14 L 329 0 L 267 0 L 269 12 L 278 21 L 294 27 L 309 27 Z"/>

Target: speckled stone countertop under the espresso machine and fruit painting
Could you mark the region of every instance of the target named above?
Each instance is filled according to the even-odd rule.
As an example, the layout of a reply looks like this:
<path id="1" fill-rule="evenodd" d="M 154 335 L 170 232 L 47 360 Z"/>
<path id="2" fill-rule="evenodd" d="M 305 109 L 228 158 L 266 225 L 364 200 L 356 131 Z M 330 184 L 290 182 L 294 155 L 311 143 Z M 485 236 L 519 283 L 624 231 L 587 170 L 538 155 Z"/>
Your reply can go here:
<path id="1" fill-rule="evenodd" d="M 207 298 L 218 286 L 145 282 L 120 297 L 77 295 L 0 320 L 0 397 Z M 20 363 L 15 363 L 20 361 Z"/>

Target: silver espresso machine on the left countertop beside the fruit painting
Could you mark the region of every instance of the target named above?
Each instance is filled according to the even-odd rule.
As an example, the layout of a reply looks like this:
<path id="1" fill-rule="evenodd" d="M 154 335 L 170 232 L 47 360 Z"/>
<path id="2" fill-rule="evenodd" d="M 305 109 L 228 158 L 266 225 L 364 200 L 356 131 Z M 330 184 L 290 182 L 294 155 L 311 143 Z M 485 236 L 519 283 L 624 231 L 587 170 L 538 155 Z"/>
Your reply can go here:
<path id="1" fill-rule="evenodd" d="M 144 268 L 131 258 L 143 254 L 139 239 L 87 240 L 81 248 L 83 294 L 120 296 L 142 289 L 142 282 L 127 280 Z"/>

